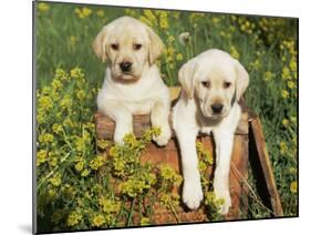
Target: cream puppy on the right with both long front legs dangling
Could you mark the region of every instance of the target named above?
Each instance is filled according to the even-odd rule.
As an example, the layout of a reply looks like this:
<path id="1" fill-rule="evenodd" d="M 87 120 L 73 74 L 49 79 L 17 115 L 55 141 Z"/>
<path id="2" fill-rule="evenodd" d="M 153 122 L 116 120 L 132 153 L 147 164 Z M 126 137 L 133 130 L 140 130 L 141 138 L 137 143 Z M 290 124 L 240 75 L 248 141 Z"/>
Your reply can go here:
<path id="1" fill-rule="evenodd" d="M 211 132 L 216 145 L 214 192 L 225 202 L 220 208 L 225 215 L 231 206 L 229 172 L 234 134 L 241 115 L 238 101 L 248 86 L 248 73 L 228 53 L 211 49 L 185 63 L 178 81 L 182 93 L 174 106 L 173 123 L 182 152 L 183 201 L 196 210 L 204 197 L 196 137 L 199 132 Z"/>

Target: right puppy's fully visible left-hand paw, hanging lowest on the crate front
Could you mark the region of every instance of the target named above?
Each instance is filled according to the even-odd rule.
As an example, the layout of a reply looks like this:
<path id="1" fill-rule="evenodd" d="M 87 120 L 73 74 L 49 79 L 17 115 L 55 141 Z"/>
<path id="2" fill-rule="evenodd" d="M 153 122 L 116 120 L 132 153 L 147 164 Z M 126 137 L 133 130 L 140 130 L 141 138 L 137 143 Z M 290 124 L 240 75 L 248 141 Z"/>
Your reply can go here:
<path id="1" fill-rule="evenodd" d="M 184 184 L 183 202 L 190 210 L 197 210 L 203 201 L 203 191 L 200 183 L 188 182 Z"/>

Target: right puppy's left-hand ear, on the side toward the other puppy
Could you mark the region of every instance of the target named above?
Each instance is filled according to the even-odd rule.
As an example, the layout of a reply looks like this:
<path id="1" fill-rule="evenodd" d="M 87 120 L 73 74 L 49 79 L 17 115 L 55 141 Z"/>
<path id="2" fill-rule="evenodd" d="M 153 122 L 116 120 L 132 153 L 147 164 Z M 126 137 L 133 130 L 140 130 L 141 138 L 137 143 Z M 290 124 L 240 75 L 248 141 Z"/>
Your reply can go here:
<path id="1" fill-rule="evenodd" d="M 197 62 L 195 59 L 189 60 L 178 71 L 178 82 L 186 91 L 188 99 L 194 98 L 195 93 L 195 73 L 197 71 Z"/>

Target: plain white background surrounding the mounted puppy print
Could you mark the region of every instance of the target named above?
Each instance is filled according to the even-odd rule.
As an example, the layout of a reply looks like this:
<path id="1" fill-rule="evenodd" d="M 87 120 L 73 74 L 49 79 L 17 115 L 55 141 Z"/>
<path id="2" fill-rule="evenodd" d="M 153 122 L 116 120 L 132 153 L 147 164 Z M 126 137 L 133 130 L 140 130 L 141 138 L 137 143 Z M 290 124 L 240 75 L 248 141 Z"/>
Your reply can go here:
<path id="1" fill-rule="evenodd" d="M 66 1 L 66 0 L 64 0 Z M 300 217 L 157 228 L 87 232 L 83 234 L 304 234 L 310 232 L 310 8 L 305 0 L 84 0 L 75 2 L 154 7 L 300 18 Z M 70 2 L 70 1 L 69 1 Z M 0 37 L 0 234 L 31 232 L 31 69 L 32 13 L 30 0 L 1 2 Z M 303 127 L 302 127 L 303 126 Z M 79 233 L 81 234 L 81 233 Z"/>

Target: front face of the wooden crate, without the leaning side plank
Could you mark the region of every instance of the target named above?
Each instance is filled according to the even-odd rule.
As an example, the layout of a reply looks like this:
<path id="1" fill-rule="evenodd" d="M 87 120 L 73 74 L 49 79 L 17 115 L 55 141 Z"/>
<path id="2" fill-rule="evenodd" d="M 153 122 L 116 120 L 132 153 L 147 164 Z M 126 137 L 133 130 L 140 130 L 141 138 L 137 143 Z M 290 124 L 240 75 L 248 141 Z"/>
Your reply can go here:
<path id="1" fill-rule="evenodd" d="M 169 119 L 170 120 L 170 119 Z M 96 137 L 99 140 L 113 140 L 115 123 L 108 116 L 103 115 L 101 113 L 95 114 L 95 123 L 96 123 Z M 170 121 L 172 126 L 172 121 Z M 151 127 L 149 115 L 135 115 L 133 116 L 133 130 L 136 137 L 141 137 L 142 133 L 145 130 Z M 243 182 L 248 177 L 248 113 L 245 112 L 241 115 L 241 120 L 239 122 L 238 129 L 235 133 L 235 143 L 232 150 L 231 157 L 231 171 L 230 171 L 230 194 L 232 206 L 230 208 L 229 214 L 226 216 L 226 219 L 237 219 L 239 218 L 239 211 L 241 207 L 241 198 L 247 200 L 247 188 L 243 187 Z M 172 131 L 173 136 L 172 140 L 165 147 L 158 147 L 155 143 L 151 143 L 147 145 L 145 154 L 142 156 L 143 162 L 149 162 L 157 165 L 169 165 L 178 173 L 182 174 L 182 163 L 180 163 L 180 154 L 177 144 L 177 140 L 175 137 L 174 131 Z M 198 140 L 203 142 L 204 147 L 212 154 L 215 159 L 214 152 L 214 142 L 211 136 L 209 135 L 200 135 Z M 209 172 L 212 175 L 212 168 L 210 167 Z M 157 207 L 157 205 L 155 205 Z M 203 210 L 198 211 L 188 211 L 185 206 L 180 206 L 178 208 L 178 222 L 179 223 L 191 223 L 191 222 L 201 222 L 207 221 L 205 213 Z M 156 224 L 167 224 L 167 223 L 176 223 L 176 218 L 166 211 L 155 208 L 153 222 Z"/>

